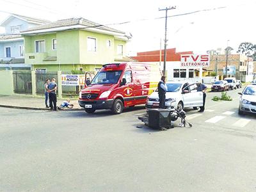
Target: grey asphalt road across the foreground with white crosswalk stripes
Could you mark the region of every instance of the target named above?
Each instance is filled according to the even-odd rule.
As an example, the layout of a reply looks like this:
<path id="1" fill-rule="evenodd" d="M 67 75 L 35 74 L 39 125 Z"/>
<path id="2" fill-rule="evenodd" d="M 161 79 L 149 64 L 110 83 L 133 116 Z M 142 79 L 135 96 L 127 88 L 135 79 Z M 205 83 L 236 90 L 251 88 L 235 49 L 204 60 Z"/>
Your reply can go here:
<path id="1" fill-rule="evenodd" d="M 237 115 L 237 92 L 208 93 L 205 113 L 187 111 L 192 128 L 168 131 L 143 126 L 141 106 L 0 108 L 0 191 L 256 191 L 256 116 Z"/>

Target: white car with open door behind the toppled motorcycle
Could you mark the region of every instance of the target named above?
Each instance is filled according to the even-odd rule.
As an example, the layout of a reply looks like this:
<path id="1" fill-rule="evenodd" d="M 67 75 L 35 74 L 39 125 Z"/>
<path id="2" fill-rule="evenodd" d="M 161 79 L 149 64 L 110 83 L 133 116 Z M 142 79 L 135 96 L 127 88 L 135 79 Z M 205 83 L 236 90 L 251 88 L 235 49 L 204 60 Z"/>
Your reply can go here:
<path id="1" fill-rule="evenodd" d="M 167 92 L 166 108 L 191 108 L 197 109 L 203 106 L 203 92 L 197 92 L 196 84 L 188 82 L 170 81 L 166 83 Z M 159 97 L 157 90 L 148 96 L 146 108 L 159 108 Z"/>

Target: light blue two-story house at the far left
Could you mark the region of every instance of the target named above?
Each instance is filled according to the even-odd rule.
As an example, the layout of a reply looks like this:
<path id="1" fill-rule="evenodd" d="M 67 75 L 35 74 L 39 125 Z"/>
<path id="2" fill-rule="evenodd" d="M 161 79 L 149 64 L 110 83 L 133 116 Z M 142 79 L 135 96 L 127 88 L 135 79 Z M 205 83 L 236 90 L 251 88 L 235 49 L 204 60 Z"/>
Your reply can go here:
<path id="1" fill-rule="evenodd" d="M 35 19 L 22 15 L 10 15 L 0 26 L 4 34 L 0 35 L 0 69 L 30 70 L 31 65 L 24 63 L 24 38 L 20 31 L 40 26 L 49 20 Z"/>

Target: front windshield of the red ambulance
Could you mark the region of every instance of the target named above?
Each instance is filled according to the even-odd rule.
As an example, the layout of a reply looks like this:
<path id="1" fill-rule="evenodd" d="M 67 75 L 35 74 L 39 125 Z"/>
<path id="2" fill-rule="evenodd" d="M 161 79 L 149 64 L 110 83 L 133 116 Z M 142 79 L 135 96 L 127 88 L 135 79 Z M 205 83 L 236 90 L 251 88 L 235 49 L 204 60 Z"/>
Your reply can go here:
<path id="1" fill-rule="evenodd" d="M 122 70 L 101 71 L 93 78 L 91 84 L 116 84 Z"/>

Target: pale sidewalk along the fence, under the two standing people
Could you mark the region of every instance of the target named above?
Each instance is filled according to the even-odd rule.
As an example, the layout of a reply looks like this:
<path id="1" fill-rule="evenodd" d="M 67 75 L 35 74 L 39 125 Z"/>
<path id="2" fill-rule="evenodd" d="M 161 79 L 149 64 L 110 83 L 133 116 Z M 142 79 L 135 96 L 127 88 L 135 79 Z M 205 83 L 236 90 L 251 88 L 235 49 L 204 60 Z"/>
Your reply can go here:
<path id="1" fill-rule="evenodd" d="M 57 106 L 65 99 L 58 99 Z M 70 100 L 70 104 L 74 104 L 72 109 L 63 109 L 68 111 L 84 110 L 80 108 L 77 100 Z M 34 109 L 34 110 L 50 110 L 45 108 L 44 97 L 29 97 L 28 95 L 0 95 L 0 107 L 2 108 L 16 108 L 16 109 Z"/>

